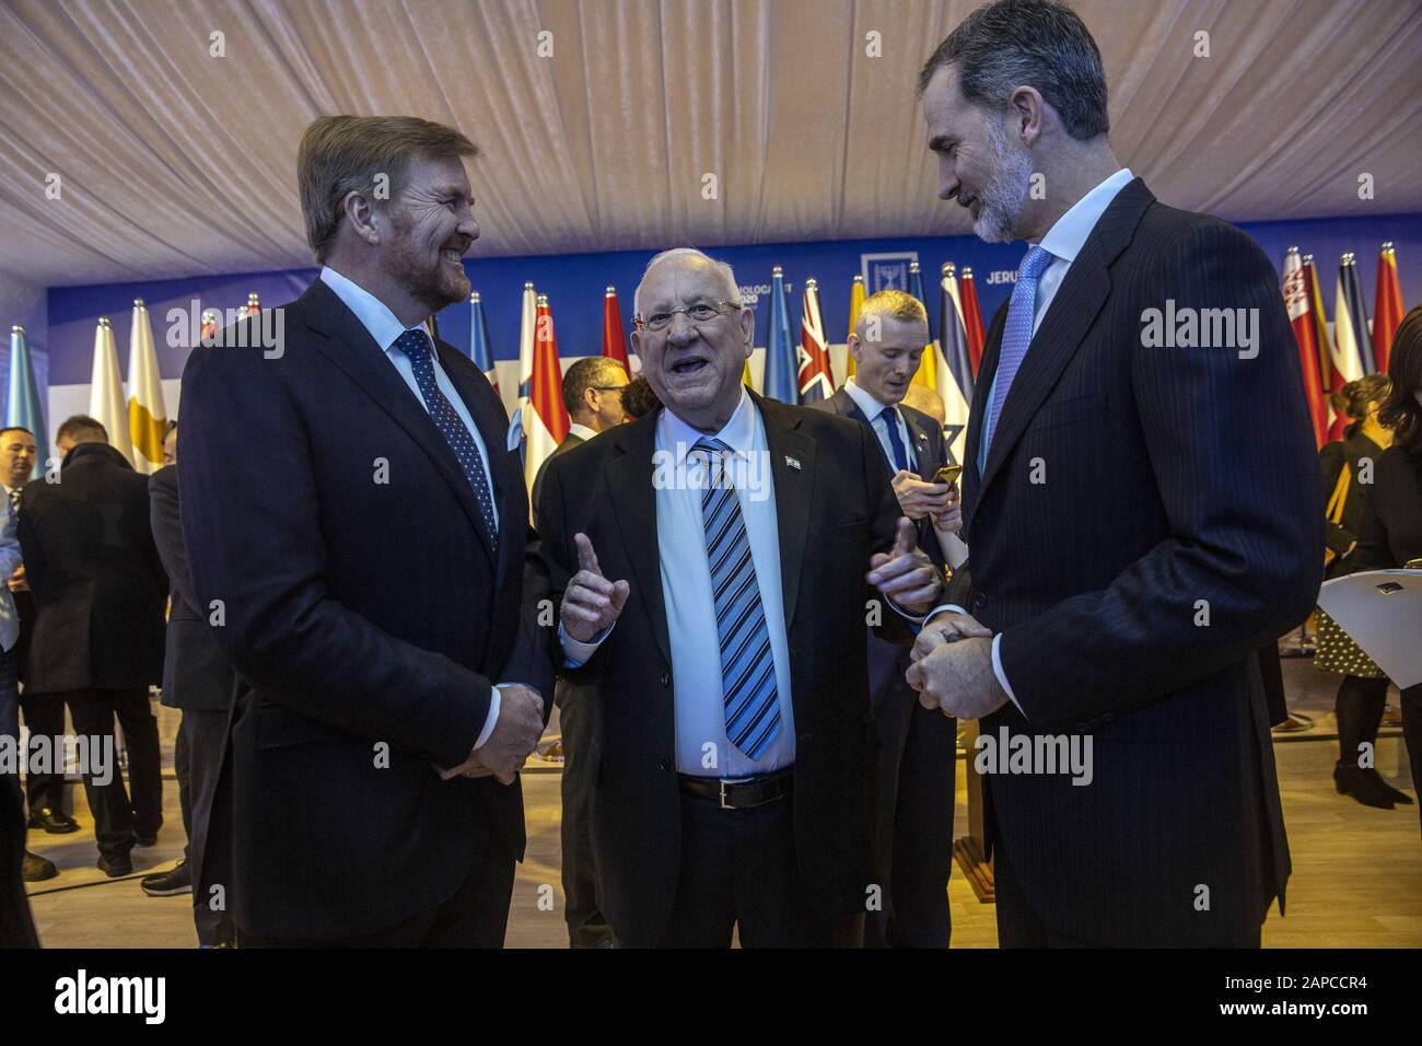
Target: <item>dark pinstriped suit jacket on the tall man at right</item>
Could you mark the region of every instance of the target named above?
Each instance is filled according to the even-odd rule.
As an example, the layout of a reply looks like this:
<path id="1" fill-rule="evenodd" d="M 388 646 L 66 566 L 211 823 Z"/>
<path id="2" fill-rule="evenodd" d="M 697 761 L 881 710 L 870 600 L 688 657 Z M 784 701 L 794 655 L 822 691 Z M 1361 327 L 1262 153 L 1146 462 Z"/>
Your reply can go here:
<path id="1" fill-rule="evenodd" d="M 1145 347 L 1143 313 L 1167 299 L 1257 310 L 1257 356 Z M 1025 716 L 1007 704 L 981 729 L 1091 734 L 1095 778 L 987 776 L 995 838 L 1058 932 L 1237 941 L 1290 871 L 1254 653 L 1308 615 L 1322 574 L 1278 279 L 1243 232 L 1132 181 L 1042 317 L 980 474 L 1005 316 L 968 423 L 958 599 L 1003 633 Z"/>

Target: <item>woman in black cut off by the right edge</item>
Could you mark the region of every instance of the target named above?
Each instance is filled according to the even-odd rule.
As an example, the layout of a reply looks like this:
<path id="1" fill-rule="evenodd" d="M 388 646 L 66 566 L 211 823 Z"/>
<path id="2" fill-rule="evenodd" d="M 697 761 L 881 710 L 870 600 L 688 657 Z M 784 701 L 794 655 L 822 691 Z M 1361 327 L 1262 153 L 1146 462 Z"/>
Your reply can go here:
<path id="1" fill-rule="evenodd" d="M 1392 391 L 1378 421 L 1392 430 L 1392 445 L 1378 455 L 1364 505 L 1352 555 L 1358 571 L 1422 561 L 1422 306 L 1402 317 L 1388 377 Z M 1412 763 L 1412 790 L 1422 791 L 1422 683 L 1402 692 L 1402 737 Z"/>

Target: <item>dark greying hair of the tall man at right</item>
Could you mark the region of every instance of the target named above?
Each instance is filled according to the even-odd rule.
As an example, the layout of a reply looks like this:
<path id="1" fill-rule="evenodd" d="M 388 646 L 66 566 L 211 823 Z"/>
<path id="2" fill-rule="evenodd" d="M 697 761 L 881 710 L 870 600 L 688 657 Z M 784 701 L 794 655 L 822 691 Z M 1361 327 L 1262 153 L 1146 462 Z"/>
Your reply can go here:
<path id="1" fill-rule="evenodd" d="M 1111 130 L 1101 51 L 1064 3 L 995 0 L 978 7 L 924 63 L 919 94 L 954 63 L 963 97 L 974 105 L 1003 108 L 1018 87 L 1035 87 L 1072 138 L 1088 141 Z"/>

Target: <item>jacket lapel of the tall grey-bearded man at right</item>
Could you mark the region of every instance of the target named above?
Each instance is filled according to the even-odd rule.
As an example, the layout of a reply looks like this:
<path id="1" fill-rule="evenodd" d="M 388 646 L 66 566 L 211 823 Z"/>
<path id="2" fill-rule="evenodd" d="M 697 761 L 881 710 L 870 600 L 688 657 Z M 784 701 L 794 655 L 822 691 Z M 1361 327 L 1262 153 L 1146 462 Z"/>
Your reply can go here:
<path id="1" fill-rule="evenodd" d="M 987 450 L 987 468 L 983 472 L 981 491 L 1003 468 L 1012 445 L 1021 438 L 1042 401 L 1051 393 L 1057 379 L 1081 347 L 1086 330 L 1111 295 L 1111 263 L 1130 243 L 1140 215 L 1155 201 L 1145 184 L 1136 178 L 1128 184 L 1102 213 L 1096 226 L 1086 236 L 1081 250 L 1066 270 L 1066 279 L 1057 289 L 1041 326 L 1032 336 L 1027 356 L 1012 377 L 1012 386 L 1003 401 L 993 433 L 993 444 Z M 1003 310 L 1005 320 L 1007 310 Z M 997 326 L 997 324 L 994 324 Z M 993 369 L 997 370 L 997 356 L 1001 350 L 1001 332 L 994 346 Z M 977 396 L 974 396 L 977 400 Z"/>

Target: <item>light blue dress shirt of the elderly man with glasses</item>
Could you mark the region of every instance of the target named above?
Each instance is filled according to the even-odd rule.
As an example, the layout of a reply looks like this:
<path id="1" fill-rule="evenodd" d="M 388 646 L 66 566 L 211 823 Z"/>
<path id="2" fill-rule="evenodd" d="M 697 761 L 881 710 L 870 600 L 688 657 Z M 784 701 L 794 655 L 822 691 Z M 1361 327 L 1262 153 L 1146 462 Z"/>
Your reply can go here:
<path id="1" fill-rule="evenodd" d="M 661 565 L 661 598 L 667 608 L 667 636 L 671 642 L 671 679 L 675 710 L 677 773 L 697 777 L 749 777 L 779 770 L 795 761 L 795 710 L 791 704 L 791 655 L 785 635 L 785 599 L 781 589 L 781 529 L 775 511 L 775 481 L 769 468 L 765 423 L 751 397 L 741 403 L 714 437 L 693 428 L 671 410 L 657 420 L 657 461 L 681 467 L 697 440 L 715 438 L 735 455 L 729 464 L 741 518 L 751 542 L 755 583 L 761 589 L 765 628 L 775 663 L 775 690 L 781 710 L 781 733 L 757 760 L 739 751 L 725 734 L 725 696 L 721 682 L 721 646 L 717 639 L 715 596 L 711 566 L 705 556 L 705 527 L 701 519 L 701 490 L 687 482 L 660 484 L 657 490 L 657 548 Z M 755 464 L 752 464 L 755 463 Z M 748 470 L 748 475 L 738 470 Z M 748 477 L 754 477 L 754 482 Z M 650 482 L 650 480 L 648 480 Z M 701 555 L 687 555 L 700 549 Z M 559 629 L 569 665 L 582 665 L 597 650 L 596 642 L 580 643 Z M 707 744 L 714 746 L 710 751 Z"/>

